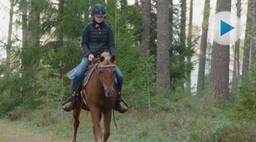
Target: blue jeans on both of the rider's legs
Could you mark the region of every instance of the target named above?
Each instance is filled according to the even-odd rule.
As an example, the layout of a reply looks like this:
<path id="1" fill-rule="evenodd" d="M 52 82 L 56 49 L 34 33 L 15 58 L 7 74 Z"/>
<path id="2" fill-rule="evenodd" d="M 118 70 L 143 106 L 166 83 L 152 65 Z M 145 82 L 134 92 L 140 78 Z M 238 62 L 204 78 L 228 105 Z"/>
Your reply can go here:
<path id="1" fill-rule="evenodd" d="M 77 86 L 82 80 L 84 70 L 87 68 L 87 66 L 88 66 L 88 57 L 84 57 L 81 63 L 78 65 L 77 71 L 74 75 L 70 97 L 72 97 L 72 94 L 75 92 Z M 123 74 L 121 73 L 121 71 L 117 66 L 115 66 L 115 72 L 116 72 L 116 79 L 117 79 L 117 89 L 121 94 L 122 85 L 123 85 Z"/>

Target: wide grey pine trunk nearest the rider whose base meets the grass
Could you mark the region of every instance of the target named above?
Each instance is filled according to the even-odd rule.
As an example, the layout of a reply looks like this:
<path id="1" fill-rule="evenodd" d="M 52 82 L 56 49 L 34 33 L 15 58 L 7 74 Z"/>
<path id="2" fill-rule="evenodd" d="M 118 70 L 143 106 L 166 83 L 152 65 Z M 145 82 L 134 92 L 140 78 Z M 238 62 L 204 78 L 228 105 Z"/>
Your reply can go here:
<path id="1" fill-rule="evenodd" d="M 168 95 L 170 89 L 169 64 L 169 2 L 157 1 L 157 88 L 158 95 Z"/>

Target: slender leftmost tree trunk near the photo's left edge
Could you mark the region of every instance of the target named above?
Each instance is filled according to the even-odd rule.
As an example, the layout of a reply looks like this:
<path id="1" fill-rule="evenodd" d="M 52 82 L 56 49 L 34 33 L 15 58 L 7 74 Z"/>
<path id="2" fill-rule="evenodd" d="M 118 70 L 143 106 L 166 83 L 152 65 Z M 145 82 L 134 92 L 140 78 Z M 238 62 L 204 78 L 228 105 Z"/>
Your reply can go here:
<path id="1" fill-rule="evenodd" d="M 14 0 L 11 0 L 11 8 L 10 8 L 10 19 L 9 19 L 9 29 L 8 29 L 8 39 L 7 39 L 7 47 L 6 47 L 6 75 L 9 76 L 11 67 L 10 67 L 10 58 L 11 58 L 11 35 L 12 35 L 12 27 L 13 27 L 13 5 Z"/>

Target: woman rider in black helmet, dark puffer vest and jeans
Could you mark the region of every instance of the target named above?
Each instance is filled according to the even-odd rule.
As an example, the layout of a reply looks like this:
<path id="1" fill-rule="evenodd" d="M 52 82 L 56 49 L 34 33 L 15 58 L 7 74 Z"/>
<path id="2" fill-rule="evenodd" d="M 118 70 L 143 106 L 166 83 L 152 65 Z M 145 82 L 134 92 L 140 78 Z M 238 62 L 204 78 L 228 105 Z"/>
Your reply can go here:
<path id="1" fill-rule="evenodd" d="M 84 74 L 84 70 L 88 66 L 88 62 L 92 61 L 94 57 L 97 57 L 98 53 L 103 53 L 106 51 L 110 52 L 110 54 L 115 57 L 115 42 L 113 33 L 110 26 L 104 22 L 106 10 L 103 5 L 94 5 L 91 10 L 91 16 L 93 17 L 93 20 L 86 25 L 82 35 L 81 47 L 84 52 L 84 58 L 77 67 L 77 71 L 74 75 L 69 103 L 65 105 L 63 104 L 62 106 L 65 111 L 73 110 L 74 108 L 71 106 L 74 106 L 74 104 L 78 102 L 78 96 L 81 90 L 77 89 L 77 87 L 82 80 L 82 76 Z M 115 66 L 115 73 L 117 79 L 116 87 L 118 92 L 114 110 L 124 113 L 128 110 L 128 107 L 120 104 L 120 100 L 122 100 L 121 89 L 123 85 L 123 75 L 117 66 Z"/>

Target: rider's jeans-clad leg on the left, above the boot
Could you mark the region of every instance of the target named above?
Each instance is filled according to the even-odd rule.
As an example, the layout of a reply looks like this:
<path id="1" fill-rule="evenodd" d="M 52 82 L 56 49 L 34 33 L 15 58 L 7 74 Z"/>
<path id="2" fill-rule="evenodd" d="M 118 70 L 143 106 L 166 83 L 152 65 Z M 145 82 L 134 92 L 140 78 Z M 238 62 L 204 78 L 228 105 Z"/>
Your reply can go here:
<path id="1" fill-rule="evenodd" d="M 72 97 L 72 94 L 75 92 L 77 86 L 79 85 L 80 81 L 82 80 L 84 70 L 87 68 L 87 66 L 88 66 L 88 58 L 84 57 L 82 59 L 81 63 L 79 64 L 79 66 L 77 67 L 77 71 L 74 75 L 75 78 L 73 79 L 70 98 Z"/>

